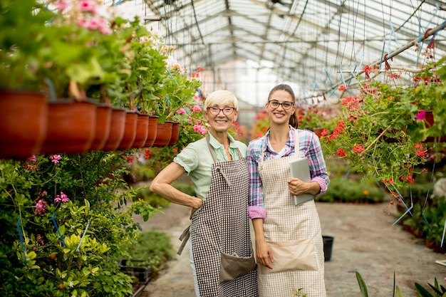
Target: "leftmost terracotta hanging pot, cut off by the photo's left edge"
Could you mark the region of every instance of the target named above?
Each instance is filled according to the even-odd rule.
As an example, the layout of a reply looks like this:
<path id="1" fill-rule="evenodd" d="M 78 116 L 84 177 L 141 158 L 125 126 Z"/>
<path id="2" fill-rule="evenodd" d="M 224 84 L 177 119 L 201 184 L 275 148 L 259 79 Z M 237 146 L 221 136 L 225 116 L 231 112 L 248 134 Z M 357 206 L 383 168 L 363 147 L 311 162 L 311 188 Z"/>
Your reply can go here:
<path id="1" fill-rule="evenodd" d="M 26 159 L 40 152 L 47 120 L 41 93 L 0 90 L 0 158 Z"/>

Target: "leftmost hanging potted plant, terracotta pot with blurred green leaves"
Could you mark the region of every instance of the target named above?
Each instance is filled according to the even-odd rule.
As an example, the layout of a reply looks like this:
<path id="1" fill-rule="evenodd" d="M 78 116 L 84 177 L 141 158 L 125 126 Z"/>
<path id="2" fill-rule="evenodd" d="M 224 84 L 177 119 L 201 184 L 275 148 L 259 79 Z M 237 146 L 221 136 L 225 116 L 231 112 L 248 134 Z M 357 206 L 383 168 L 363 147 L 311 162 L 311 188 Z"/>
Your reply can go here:
<path id="1" fill-rule="evenodd" d="M 1 1 L 0 158 L 26 159 L 46 137 L 48 107 L 36 70 L 44 66 L 38 39 L 52 16 L 34 0 Z"/>

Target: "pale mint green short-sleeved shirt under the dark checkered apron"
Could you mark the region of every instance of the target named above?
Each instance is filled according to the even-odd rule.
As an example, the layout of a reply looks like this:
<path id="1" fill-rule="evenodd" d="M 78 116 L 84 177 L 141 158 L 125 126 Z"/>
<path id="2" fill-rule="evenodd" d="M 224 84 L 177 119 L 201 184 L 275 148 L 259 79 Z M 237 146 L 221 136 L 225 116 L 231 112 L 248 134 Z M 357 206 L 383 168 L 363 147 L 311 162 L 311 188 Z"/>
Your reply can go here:
<path id="1" fill-rule="evenodd" d="M 209 133 L 209 143 L 214 147 L 217 162 L 229 161 L 224 146 L 218 142 L 212 134 Z M 237 148 L 240 150 L 242 157 L 247 155 L 247 145 L 243 142 L 234 140 L 234 137 L 228 134 L 229 138 L 229 154 L 232 160 L 239 160 Z M 206 137 L 190 143 L 185 147 L 174 159 L 173 162 L 183 167 L 189 174 L 197 197 L 205 199 L 209 188 L 211 187 L 212 160 L 211 152 L 207 146 Z"/>

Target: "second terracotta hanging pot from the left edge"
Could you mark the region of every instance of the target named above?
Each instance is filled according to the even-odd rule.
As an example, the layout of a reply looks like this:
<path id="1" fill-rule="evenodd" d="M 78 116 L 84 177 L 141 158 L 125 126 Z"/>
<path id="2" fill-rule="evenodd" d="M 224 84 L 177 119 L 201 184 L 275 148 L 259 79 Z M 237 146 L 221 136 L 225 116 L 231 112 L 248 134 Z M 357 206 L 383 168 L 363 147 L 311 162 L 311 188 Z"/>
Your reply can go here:
<path id="1" fill-rule="evenodd" d="M 48 129 L 41 153 L 87 152 L 95 136 L 96 108 L 97 105 L 87 101 L 48 103 Z"/>

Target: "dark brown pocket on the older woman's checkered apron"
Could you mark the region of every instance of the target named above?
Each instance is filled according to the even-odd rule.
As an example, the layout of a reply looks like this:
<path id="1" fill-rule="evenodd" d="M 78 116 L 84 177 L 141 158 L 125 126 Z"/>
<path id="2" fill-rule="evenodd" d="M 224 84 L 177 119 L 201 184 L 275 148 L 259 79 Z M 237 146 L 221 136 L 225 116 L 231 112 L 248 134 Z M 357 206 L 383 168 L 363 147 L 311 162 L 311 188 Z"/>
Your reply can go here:
<path id="1" fill-rule="evenodd" d="M 220 283 L 244 276 L 256 269 L 257 266 L 252 252 L 249 257 L 221 253 L 220 260 Z"/>

